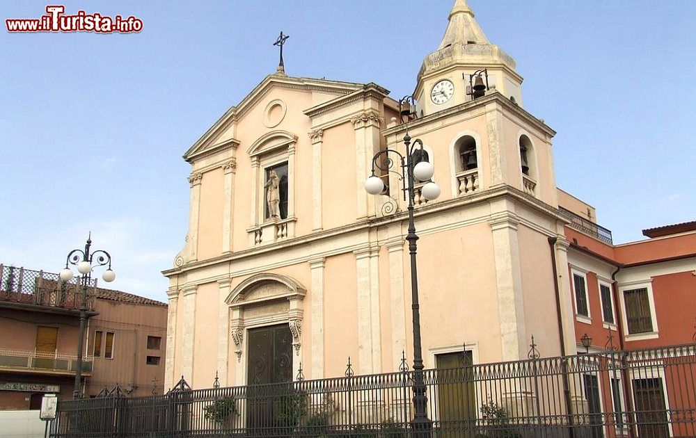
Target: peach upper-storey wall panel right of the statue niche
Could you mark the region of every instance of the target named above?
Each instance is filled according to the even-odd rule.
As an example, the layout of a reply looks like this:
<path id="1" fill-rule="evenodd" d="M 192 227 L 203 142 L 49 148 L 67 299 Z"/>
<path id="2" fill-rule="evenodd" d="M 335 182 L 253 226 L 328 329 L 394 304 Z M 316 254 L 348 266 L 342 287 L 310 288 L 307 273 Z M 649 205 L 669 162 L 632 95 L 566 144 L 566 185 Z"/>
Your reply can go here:
<path id="1" fill-rule="evenodd" d="M 322 227 L 331 229 L 355 222 L 356 218 L 356 179 L 355 130 L 349 122 L 324 130 L 322 142 Z M 303 173 L 311 181 L 311 165 L 306 165 Z M 311 187 L 303 194 L 311 201 Z M 306 210 L 306 218 L 298 218 L 311 225 L 311 206 Z M 299 226 L 299 223 L 298 223 Z"/>

